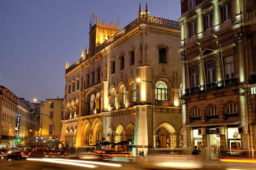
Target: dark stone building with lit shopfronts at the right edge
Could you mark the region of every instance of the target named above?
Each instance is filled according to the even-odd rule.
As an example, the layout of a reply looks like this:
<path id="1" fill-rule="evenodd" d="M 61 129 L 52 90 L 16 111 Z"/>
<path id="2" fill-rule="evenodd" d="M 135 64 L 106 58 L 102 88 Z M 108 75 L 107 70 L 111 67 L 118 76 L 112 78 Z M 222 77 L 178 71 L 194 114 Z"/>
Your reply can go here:
<path id="1" fill-rule="evenodd" d="M 254 157 L 256 2 L 180 3 L 184 146 Z"/>

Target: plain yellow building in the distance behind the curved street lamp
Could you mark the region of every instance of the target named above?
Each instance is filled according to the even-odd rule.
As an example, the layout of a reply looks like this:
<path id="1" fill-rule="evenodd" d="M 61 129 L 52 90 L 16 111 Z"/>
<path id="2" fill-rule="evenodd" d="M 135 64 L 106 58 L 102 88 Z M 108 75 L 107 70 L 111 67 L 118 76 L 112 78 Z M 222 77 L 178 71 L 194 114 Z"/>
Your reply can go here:
<path id="1" fill-rule="evenodd" d="M 51 147 L 52 139 L 55 139 L 55 146 L 58 146 L 58 143 L 60 143 L 63 108 L 63 99 L 59 97 L 57 99 L 46 99 L 46 101 L 40 103 L 40 128 L 37 133 L 38 146 Z"/>

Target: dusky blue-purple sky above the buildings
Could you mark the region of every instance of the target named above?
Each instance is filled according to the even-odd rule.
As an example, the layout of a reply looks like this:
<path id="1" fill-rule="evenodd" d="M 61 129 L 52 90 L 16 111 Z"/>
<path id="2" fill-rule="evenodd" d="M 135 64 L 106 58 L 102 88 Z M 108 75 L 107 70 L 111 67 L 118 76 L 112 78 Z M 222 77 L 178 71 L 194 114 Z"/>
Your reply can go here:
<path id="1" fill-rule="evenodd" d="M 64 97 L 65 62 L 88 45 L 90 15 L 120 29 L 138 17 L 136 0 L 0 0 L 0 85 L 33 101 Z M 177 20 L 179 0 L 147 1 L 149 15 Z"/>

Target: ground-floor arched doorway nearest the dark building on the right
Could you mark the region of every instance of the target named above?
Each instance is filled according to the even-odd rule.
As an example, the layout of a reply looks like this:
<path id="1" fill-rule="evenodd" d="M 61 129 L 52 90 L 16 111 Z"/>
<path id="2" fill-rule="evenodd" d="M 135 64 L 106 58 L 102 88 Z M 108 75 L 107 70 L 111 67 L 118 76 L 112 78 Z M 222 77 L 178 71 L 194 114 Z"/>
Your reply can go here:
<path id="1" fill-rule="evenodd" d="M 172 125 L 163 123 L 154 132 L 154 146 L 156 148 L 175 148 L 176 135 Z"/>

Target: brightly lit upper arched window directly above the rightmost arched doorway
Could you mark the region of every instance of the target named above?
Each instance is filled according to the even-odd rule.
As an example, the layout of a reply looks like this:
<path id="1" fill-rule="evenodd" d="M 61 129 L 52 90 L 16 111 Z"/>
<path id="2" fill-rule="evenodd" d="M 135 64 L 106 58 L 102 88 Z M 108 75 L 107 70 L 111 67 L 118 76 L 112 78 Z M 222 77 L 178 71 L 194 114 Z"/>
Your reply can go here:
<path id="1" fill-rule="evenodd" d="M 164 81 L 157 81 L 156 83 L 156 100 L 167 101 L 168 100 L 168 87 Z"/>

